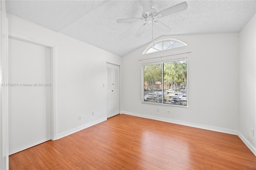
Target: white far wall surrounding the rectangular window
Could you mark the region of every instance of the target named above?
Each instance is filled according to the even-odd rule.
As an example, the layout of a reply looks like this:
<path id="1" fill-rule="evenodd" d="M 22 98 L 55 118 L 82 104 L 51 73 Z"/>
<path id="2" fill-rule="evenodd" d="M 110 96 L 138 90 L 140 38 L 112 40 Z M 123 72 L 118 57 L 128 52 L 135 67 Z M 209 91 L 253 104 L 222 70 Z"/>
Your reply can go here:
<path id="1" fill-rule="evenodd" d="M 237 134 L 238 34 L 164 36 L 188 46 L 142 55 L 144 45 L 122 59 L 122 113 Z M 189 52 L 143 62 L 188 57 L 188 108 L 141 103 L 139 59 Z M 159 113 L 156 112 L 159 108 Z M 167 114 L 167 109 L 170 114 Z"/>

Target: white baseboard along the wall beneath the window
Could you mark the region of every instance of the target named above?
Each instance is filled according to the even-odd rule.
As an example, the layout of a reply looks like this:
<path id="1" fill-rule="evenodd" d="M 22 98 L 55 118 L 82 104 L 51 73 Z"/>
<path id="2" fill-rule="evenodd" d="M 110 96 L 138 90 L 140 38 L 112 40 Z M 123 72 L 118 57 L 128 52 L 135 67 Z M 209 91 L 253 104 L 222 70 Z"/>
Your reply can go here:
<path id="1" fill-rule="evenodd" d="M 184 126 L 189 126 L 189 127 L 195 127 L 195 128 L 202 128 L 206 130 L 212 130 L 216 132 L 222 132 L 222 133 L 228 133 L 228 134 L 235 134 L 237 135 L 237 130 L 231 130 L 231 129 L 226 129 L 226 128 L 219 128 L 219 127 L 211 127 L 211 126 L 206 126 L 206 125 L 199 125 L 195 123 L 188 123 L 188 122 L 182 122 L 182 121 L 176 121 L 173 119 L 167 119 L 167 118 L 162 118 L 162 117 L 156 117 L 156 116 L 149 116 L 149 115 L 142 115 L 138 113 L 131 113 L 131 112 L 126 112 L 122 111 L 121 114 L 126 114 L 126 115 L 131 115 L 131 116 L 136 116 L 136 117 L 143 117 L 147 119 L 153 119 L 157 121 L 163 121 L 163 122 L 168 122 L 168 123 L 175 123 L 178 125 L 184 125 Z"/>

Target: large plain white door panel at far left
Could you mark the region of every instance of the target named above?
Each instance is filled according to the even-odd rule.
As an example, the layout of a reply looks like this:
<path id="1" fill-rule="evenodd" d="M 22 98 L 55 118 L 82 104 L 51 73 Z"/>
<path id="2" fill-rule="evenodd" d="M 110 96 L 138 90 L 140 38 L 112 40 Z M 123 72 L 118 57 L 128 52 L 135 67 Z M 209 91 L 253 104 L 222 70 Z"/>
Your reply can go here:
<path id="1" fill-rule="evenodd" d="M 49 47 L 9 38 L 9 155 L 51 139 L 50 56 Z"/>

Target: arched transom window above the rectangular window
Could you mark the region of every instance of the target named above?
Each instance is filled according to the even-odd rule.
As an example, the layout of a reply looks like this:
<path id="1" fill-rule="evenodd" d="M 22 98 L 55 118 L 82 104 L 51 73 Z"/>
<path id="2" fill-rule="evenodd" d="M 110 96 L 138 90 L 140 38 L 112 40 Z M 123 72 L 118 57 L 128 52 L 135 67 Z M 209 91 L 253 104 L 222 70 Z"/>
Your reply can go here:
<path id="1" fill-rule="evenodd" d="M 157 51 L 164 51 L 166 49 L 172 49 L 172 48 L 177 48 L 177 47 L 183 47 L 186 46 L 185 43 L 175 40 L 175 39 L 168 39 L 168 40 L 160 40 L 160 42 L 153 43 L 150 46 L 146 48 L 144 51 L 144 54 L 147 53 L 154 53 Z"/>

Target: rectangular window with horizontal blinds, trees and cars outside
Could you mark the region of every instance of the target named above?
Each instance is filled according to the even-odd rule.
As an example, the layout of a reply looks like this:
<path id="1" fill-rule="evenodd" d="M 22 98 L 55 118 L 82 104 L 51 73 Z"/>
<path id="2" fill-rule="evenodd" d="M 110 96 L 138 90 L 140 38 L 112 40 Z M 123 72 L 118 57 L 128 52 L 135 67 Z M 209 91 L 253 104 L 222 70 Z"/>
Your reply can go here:
<path id="1" fill-rule="evenodd" d="M 188 105 L 187 59 L 142 65 L 142 102 Z"/>

